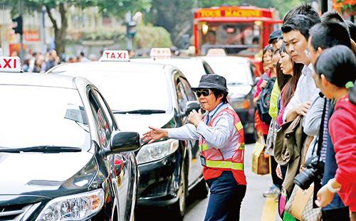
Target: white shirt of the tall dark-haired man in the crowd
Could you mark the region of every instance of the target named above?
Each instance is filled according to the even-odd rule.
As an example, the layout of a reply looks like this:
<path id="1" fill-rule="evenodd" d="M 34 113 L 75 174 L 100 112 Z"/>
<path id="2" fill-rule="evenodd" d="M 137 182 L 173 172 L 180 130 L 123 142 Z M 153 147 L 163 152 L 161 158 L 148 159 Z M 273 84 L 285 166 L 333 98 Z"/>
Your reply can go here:
<path id="1" fill-rule="evenodd" d="M 311 102 L 313 96 L 320 92 L 313 80 L 312 68 L 313 65 L 311 63 L 308 66 L 304 65 L 302 75 L 300 75 L 299 77 L 294 95 L 292 99 L 290 99 L 290 102 L 287 104 L 286 109 L 283 113 L 283 123 L 286 122 L 288 112 L 290 112 L 291 109 L 293 109 L 298 104 Z"/>

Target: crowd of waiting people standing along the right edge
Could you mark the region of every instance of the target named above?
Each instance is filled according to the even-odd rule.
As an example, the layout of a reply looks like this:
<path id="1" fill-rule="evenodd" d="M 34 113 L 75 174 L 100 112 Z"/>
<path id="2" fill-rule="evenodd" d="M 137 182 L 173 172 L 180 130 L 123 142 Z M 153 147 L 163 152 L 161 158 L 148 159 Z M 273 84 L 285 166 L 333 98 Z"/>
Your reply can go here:
<path id="1" fill-rule="evenodd" d="M 356 220 L 355 41 L 355 23 L 303 4 L 263 50 L 255 126 L 273 180 L 263 196 L 283 220 L 300 219 L 285 209 L 298 188 L 313 189 L 316 220 Z"/>

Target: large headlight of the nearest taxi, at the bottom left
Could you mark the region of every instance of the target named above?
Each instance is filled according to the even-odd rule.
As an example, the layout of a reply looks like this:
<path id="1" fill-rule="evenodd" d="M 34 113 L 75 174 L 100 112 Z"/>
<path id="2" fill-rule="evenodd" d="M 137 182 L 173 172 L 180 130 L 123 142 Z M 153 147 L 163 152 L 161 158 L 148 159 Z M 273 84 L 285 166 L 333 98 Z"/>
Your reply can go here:
<path id="1" fill-rule="evenodd" d="M 104 204 L 104 190 L 54 198 L 43 208 L 36 221 L 83 220 L 99 212 Z"/>

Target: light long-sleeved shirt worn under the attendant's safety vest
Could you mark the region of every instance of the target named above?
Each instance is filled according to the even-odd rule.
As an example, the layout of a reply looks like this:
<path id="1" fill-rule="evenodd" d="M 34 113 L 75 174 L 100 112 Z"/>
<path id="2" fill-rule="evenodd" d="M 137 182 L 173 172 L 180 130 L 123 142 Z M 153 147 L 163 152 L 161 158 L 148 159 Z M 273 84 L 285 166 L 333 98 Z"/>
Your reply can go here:
<path id="1" fill-rule="evenodd" d="M 216 117 L 216 114 L 218 114 L 222 109 L 225 109 L 226 107 L 233 109 L 230 104 L 223 104 L 220 108 L 218 105 L 218 107 L 216 107 L 214 110 L 207 113 L 209 115 L 209 119 L 212 119 L 212 117 Z M 236 147 L 239 144 L 239 136 L 234 136 L 234 134 L 236 133 L 236 129 L 234 126 L 234 117 L 231 116 L 231 114 L 229 114 L 228 112 L 224 112 L 219 117 L 217 117 L 214 120 L 212 126 L 207 126 L 206 122 L 202 121 L 197 127 L 195 127 L 193 124 L 184 124 L 184 126 L 167 130 L 169 138 L 172 139 L 197 140 L 201 135 L 204 137 L 208 146 L 214 146 L 217 149 L 221 149 L 221 151 L 223 151 L 223 149 L 226 149 L 226 151 L 229 153 L 231 150 L 231 154 L 227 153 L 227 155 L 231 156 L 234 154 L 234 149 L 231 149 L 231 146 Z"/>

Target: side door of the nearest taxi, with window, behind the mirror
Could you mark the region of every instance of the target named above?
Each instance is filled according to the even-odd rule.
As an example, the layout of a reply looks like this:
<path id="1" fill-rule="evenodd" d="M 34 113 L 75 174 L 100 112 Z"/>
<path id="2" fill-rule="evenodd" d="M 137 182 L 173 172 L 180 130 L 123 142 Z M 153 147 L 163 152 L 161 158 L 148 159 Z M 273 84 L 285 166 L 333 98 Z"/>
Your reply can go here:
<path id="1" fill-rule="evenodd" d="M 98 131 L 100 137 L 100 148 L 110 147 L 110 135 L 112 131 L 117 130 L 114 117 L 110 114 L 110 109 L 105 99 L 100 95 L 100 92 L 95 88 L 89 91 L 90 104 L 93 104 L 92 111 L 95 118 L 98 120 Z M 119 210 L 119 220 L 128 220 L 126 210 L 131 210 L 131 199 L 129 195 L 129 171 L 130 171 L 130 153 L 116 153 L 108 156 L 106 161 L 108 171 L 111 176 L 112 189 L 115 192 L 117 199 L 117 208 Z M 127 207 L 127 201 L 130 201 Z M 114 203 L 115 205 L 115 203 Z M 129 214 L 130 216 L 130 214 Z"/>

